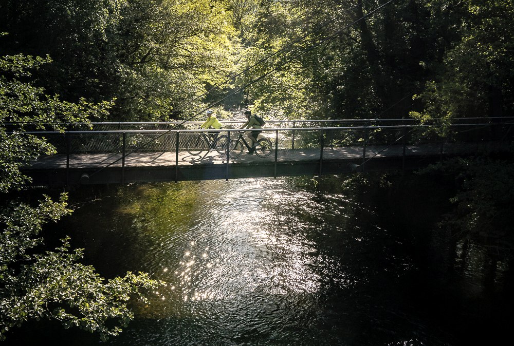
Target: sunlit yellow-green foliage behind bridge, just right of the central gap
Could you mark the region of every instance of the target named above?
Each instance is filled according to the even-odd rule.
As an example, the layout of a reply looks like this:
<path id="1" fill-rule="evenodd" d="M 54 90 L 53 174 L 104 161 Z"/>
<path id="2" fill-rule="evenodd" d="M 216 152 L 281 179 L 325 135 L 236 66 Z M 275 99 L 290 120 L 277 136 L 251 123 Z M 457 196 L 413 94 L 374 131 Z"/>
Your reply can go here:
<path id="1" fill-rule="evenodd" d="M 302 119 L 311 116 L 313 109 L 322 107 L 314 92 L 316 69 L 311 65 L 314 55 L 302 50 L 316 37 L 308 35 L 299 40 L 314 25 L 306 20 L 296 2 L 263 2 L 251 7 L 247 14 L 243 37 L 246 44 L 242 68 L 250 68 L 238 81 L 252 84 L 246 97 L 256 112 L 272 119 Z M 319 51 L 318 51 L 319 52 Z M 269 59 L 265 59 L 269 56 Z M 264 61 L 263 61 L 264 60 Z"/>

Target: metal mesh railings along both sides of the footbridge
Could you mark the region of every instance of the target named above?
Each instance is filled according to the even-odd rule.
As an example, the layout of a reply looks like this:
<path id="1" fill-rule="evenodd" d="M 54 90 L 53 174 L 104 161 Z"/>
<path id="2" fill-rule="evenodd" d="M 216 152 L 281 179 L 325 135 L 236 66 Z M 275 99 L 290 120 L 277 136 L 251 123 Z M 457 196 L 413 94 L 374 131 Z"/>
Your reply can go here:
<path id="1" fill-rule="evenodd" d="M 403 157 L 409 155 L 444 155 L 452 153 L 495 150 L 494 143 L 503 144 L 512 140 L 512 123 L 452 124 L 446 128 L 444 137 L 438 131 L 442 126 L 392 125 L 392 126 L 340 126 L 340 127 L 284 127 L 263 128 L 261 136 L 273 143 L 274 149 L 268 158 L 262 158 L 275 167 L 291 160 L 315 160 L 319 162 L 320 173 L 324 160 L 330 160 L 336 153 L 344 151 L 348 158 L 360 159 L 363 169 L 369 160 L 384 155 Z M 201 160 L 186 151 L 188 139 L 206 130 L 89 130 L 89 131 L 35 131 L 26 132 L 44 137 L 66 157 L 65 167 L 89 167 L 102 170 L 116 166 L 124 169 L 130 165 L 153 164 L 159 153 L 161 165 L 187 164 Z M 239 129 L 209 130 L 219 136 L 235 139 Z M 421 148 L 416 151 L 416 148 Z M 213 151 L 216 155 L 216 152 Z M 131 156 L 139 154 L 137 160 Z M 166 155 L 164 155 L 166 154 Z M 81 159 L 78 159 L 78 158 Z M 87 157 L 87 159 L 85 159 Z M 218 159 L 228 165 L 228 155 L 220 154 Z M 148 160 L 148 162 L 144 162 Z M 62 164 L 62 161 L 61 161 Z"/>

